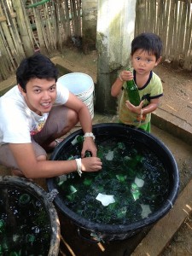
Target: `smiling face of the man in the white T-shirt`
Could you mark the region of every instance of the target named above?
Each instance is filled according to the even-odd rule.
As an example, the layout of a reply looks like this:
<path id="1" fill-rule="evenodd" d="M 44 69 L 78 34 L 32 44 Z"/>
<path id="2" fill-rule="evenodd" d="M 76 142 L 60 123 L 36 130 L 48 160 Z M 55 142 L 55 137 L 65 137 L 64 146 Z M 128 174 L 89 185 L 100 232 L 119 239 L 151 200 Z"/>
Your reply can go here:
<path id="1" fill-rule="evenodd" d="M 55 79 L 31 79 L 26 84 L 26 92 L 18 84 L 20 93 L 24 96 L 26 105 L 33 112 L 48 113 L 56 98 Z"/>

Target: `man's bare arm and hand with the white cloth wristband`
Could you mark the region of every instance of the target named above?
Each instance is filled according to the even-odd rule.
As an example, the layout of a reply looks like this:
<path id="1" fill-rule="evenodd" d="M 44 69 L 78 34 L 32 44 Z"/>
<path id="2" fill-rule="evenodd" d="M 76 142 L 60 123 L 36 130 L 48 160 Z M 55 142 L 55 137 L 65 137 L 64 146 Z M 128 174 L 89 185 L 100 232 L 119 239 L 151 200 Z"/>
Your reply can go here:
<path id="1" fill-rule="evenodd" d="M 77 171 L 76 160 L 38 160 L 32 143 L 9 143 L 20 171 L 27 178 L 55 177 Z M 99 158 L 91 157 L 82 160 L 82 171 L 96 172 L 102 169 Z"/>

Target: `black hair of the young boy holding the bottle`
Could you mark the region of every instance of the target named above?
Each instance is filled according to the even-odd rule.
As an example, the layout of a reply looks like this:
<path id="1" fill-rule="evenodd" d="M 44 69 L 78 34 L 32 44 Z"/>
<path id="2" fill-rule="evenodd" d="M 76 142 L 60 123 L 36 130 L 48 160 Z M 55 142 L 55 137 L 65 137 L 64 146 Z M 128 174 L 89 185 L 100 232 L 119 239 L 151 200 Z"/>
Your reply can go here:
<path id="1" fill-rule="evenodd" d="M 158 35 L 144 32 L 132 40 L 131 55 L 133 55 L 137 49 L 148 51 L 148 54 L 155 55 L 156 60 L 158 60 L 162 55 L 163 44 Z"/>

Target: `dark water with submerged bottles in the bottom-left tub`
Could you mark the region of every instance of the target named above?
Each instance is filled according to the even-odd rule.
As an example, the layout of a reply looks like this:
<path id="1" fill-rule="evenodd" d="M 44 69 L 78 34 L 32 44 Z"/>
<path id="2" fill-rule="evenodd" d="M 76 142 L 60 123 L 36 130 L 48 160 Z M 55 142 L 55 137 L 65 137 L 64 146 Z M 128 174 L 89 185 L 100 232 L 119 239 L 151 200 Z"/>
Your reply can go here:
<path id="1" fill-rule="evenodd" d="M 49 216 L 24 189 L 0 185 L 0 255 L 48 255 Z"/>

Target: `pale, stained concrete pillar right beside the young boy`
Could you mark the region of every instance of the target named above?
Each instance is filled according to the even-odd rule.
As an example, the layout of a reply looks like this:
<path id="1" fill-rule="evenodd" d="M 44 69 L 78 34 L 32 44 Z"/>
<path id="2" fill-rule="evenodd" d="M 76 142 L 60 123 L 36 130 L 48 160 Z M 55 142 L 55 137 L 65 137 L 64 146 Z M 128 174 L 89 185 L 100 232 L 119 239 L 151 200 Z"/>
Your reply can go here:
<path id="1" fill-rule="evenodd" d="M 111 85 L 128 65 L 134 38 L 136 0 L 98 0 L 96 49 L 98 51 L 96 111 L 116 113 Z"/>

